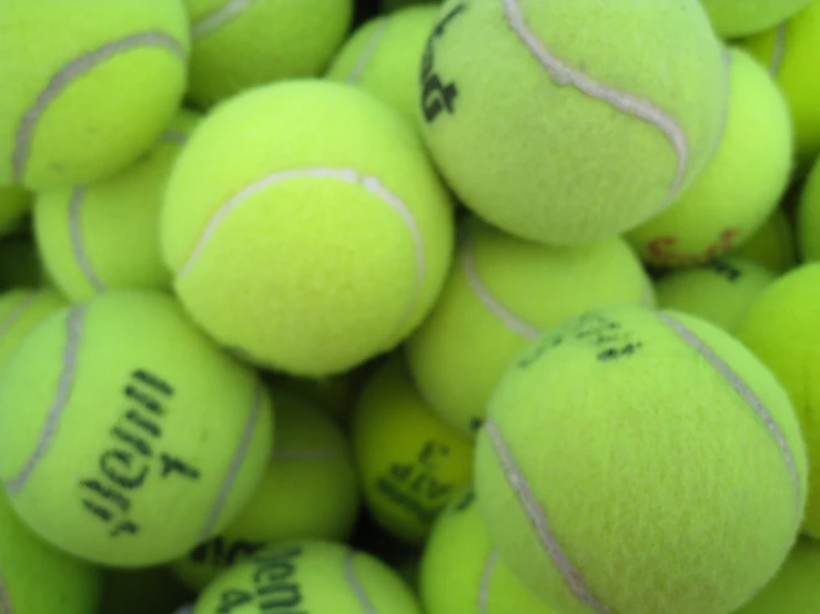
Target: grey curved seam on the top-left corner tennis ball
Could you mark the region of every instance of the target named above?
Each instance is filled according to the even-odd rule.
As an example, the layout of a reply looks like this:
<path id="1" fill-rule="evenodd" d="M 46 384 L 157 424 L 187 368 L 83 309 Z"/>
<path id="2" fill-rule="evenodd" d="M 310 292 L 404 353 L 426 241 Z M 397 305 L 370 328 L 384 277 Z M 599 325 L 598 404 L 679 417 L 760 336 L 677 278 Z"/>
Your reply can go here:
<path id="1" fill-rule="evenodd" d="M 12 154 L 12 168 L 16 183 L 24 183 L 26 166 L 31 155 L 31 142 L 33 141 L 34 130 L 40 117 L 42 117 L 51 103 L 62 94 L 65 88 L 98 65 L 109 61 L 114 55 L 140 47 L 165 49 L 178 55 L 182 61 L 188 62 L 185 50 L 170 34 L 164 32 L 141 32 L 105 43 L 99 49 L 89 51 L 62 66 L 51 78 L 45 89 L 37 98 L 34 105 L 26 112 L 20 122 L 14 140 L 14 152 Z"/>

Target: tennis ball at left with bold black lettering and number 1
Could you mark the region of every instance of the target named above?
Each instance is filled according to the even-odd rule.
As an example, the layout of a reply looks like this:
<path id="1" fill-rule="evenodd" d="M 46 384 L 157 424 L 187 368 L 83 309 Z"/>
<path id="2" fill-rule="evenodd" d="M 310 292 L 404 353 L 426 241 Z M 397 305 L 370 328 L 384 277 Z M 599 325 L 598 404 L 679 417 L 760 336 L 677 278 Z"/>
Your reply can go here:
<path id="1" fill-rule="evenodd" d="M 253 371 L 159 293 L 107 293 L 45 318 L 0 371 L 0 408 L 16 511 L 103 565 L 171 562 L 217 534 L 271 453 Z"/>

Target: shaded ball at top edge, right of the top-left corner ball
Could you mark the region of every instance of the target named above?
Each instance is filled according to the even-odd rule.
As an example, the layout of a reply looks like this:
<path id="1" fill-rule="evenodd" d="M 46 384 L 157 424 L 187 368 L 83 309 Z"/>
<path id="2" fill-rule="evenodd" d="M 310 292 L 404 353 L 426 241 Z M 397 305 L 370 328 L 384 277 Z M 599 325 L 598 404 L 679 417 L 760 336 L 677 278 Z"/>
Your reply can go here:
<path id="1" fill-rule="evenodd" d="M 255 85 L 318 75 L 353 20 L 353 0 L 184 3 L 193 42 L 188 98 L 203 109 Z"/>

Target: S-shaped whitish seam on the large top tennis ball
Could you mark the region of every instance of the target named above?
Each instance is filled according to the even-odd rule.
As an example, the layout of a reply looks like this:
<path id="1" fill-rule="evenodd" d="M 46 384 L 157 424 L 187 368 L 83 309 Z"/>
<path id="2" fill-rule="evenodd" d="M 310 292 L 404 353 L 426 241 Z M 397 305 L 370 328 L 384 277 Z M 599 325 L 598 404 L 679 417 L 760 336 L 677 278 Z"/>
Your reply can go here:
<path id="1" fill-rule="evenodd" d="M 520 0 L 502 1 L 509 27 L 559 85 L 573 85 L 581 93 L 605 102 L 621 113 L 627 113 L 642 120 L 664 133 L 677 155 L 678 170 L 669 186 L 666 199 L 660 203 L 659 208 L 671 203 L 676 194 L 680 191 L 689 165 L 689 143 L 686 132 L 680 124 L 648 100 L 639 99 L 630 93 L 621 92 L 604 83 L 599 83 L 553 55 L 541 41 L 538 40 L 538 37 L 527 27 L 524 12 L 520 8 Z"/>

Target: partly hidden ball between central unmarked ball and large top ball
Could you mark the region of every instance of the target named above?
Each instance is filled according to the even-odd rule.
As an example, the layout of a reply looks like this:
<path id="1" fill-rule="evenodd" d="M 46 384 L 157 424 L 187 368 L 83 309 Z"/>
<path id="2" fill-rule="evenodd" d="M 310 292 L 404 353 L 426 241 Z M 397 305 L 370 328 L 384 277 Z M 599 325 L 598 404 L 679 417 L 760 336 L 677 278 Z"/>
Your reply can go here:
<path id="1" fill-rule="evenodd" d="M 418 64 L 438 7 L 409 7 L 356 30 L 333 60 L 327 78 L 345 81 L 418 122 Z"/>

